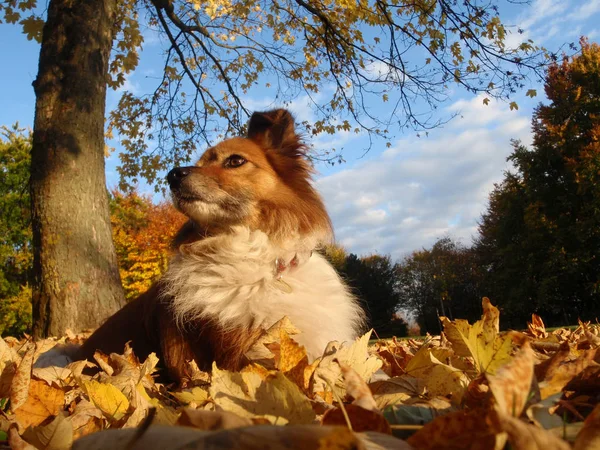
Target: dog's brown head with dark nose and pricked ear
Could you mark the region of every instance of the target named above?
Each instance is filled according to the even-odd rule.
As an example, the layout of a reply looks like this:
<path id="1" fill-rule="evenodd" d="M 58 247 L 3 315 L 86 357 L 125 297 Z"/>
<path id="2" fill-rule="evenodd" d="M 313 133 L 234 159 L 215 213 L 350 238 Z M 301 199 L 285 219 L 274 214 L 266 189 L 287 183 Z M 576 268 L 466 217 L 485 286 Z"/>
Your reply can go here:
<path id="1" fill-rule="evenodd" d="M 277 241 L 327 241 L 331 223 L 311 184 L 306 147 L 283 109 L 256 112 L 247 137 L 209 148 L 195 166 L 177 167 L 167 181 L 175 206 L 207 235 L 243 225 Z"/>

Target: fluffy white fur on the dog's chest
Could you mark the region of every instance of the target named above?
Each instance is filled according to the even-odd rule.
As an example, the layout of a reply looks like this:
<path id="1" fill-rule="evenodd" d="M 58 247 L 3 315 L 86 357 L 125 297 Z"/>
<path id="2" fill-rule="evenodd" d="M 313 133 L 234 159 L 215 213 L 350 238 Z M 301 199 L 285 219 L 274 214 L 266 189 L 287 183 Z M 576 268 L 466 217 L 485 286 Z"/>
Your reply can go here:
<path id="1" fill-rule="evenodd" d="M 185 246 L 163 278 L 165 294 L 182 324 L 268 328 L 288 316 L 301 332 L 294 339 L 313 358 L 330 341 L 354 340 L 364 313 L 325 258 L 314 253 L 278 280 L 275 260 L 293 256 L 263 232 L 236 228 Z"/>

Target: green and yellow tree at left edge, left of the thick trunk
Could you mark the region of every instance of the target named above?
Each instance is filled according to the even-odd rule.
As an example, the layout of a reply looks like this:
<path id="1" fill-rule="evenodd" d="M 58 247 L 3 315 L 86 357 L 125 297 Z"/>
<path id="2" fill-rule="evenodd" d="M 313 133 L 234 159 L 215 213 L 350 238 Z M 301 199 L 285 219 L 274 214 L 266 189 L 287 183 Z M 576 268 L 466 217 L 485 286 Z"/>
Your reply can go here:
<path id="1" fill-rule="evenodd" d="M 19 335 L 31 326 L 31 133 L 0 130 L 0 334 Z"/>

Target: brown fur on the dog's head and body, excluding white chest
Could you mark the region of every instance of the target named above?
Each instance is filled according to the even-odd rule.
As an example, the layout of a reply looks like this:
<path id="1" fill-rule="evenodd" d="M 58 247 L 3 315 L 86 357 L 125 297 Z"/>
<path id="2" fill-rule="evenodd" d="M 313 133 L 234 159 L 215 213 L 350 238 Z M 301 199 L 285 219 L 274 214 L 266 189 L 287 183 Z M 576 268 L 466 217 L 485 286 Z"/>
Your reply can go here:
<path id="1" fill-rule="evenodd" d="M 227 232 L 233 225 L 262 230 L 274 241 L 290 236 L 326 240 L 331 223 L 311 185 L 312 167 L 305 151 L 287 111 L 255 113 L 247 138 L 221 142 L 209 148 L 196 166 L 186 168 L 189 175 L 173 197 L 190 221 L 181 228 L 174 245 Z M 248 162 L 227 168 L 225 161 L 231 155 Z M 198 212 L 197 199 L 203 198 L 214 200 L 218 217 Z M 139 358 L 156 352 L 168 377 L 182 380 L 189 375 L 187 362 L 192 359 L 204 370 L 210 369 L 213 361 L 221 368 L 239 370 L 260 332 L 256 328 L 225 330 L 207 321 L 178 326 L 158 281 L 98 328 L 83 344 L 78 358 L 91 360 L 96 350 L 120 353 L 131 341 Z"/>

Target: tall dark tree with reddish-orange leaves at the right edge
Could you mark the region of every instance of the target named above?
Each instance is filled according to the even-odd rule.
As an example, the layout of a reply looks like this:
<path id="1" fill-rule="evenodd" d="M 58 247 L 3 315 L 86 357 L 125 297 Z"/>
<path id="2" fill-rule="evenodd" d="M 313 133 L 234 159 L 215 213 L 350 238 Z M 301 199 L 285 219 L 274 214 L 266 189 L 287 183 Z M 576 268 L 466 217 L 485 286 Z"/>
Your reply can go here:
<path id="1" fill-rule="evenodd" d="M 549 68 L 533 145 L 514 144 L 479 229 L 490 296 L 521 326 L 600 314 L 600 46 L 581 47 Z"/>

